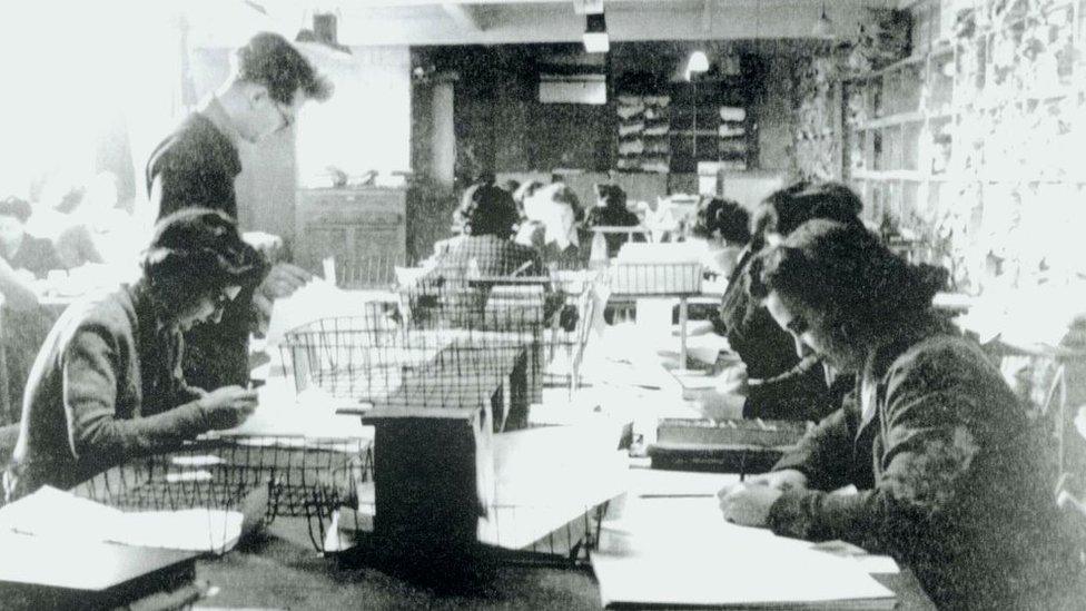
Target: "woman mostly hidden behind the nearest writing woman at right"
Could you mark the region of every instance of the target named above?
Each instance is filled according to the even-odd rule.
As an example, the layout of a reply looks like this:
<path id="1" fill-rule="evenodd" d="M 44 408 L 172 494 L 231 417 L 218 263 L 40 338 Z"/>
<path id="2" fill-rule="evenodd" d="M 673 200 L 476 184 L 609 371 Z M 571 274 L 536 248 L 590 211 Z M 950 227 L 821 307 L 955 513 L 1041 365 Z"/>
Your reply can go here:
<path id="1" fill-rule="evenodd" d="M 840 406 L 850 381 L 828 381 L 817 357 L 801 359 L 788 333 L 750 298 L 748 272 L 766 244 L 782 239 L 807 220 L 828 218 L 859 226 L 861 206 L 845 185 L 801 181 L 773 193 L 754 210 L 750 244 L 728 278 L 720 317 L 713 321 L 746 365 L 731 388 L 747 395 L 744 417 L 817 421 Z"/>

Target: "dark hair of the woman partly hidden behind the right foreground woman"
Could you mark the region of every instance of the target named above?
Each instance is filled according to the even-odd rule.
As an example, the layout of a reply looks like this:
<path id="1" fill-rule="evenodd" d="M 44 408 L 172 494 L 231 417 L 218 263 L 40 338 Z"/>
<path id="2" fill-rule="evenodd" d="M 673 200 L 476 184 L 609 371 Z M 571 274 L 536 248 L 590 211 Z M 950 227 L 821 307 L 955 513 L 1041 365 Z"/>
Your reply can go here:
<path id="1" fill-rule="evenodd" d="M 800 180 L 774 191 L 754 210 L 750 224 L 754 249 L 764 245 L 768 234 L 787 236 L 816 218 L 859 224 L 862 209 L 860 197 L 841 183 Z"/>

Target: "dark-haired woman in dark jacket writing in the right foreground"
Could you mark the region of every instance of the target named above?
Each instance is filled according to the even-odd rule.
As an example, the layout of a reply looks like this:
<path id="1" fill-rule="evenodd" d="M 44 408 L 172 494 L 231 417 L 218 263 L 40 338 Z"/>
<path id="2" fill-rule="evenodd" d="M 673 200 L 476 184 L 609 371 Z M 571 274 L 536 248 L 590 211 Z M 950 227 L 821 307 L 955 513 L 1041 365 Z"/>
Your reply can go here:
<path id="1" fill-rule="evenodd" d="M 1080 608 L 1068 587 L 1082 542 L 1056 512 L 1054 442 L 932 311 L 941 279 L 828 220 L 750 275 L 781 327 L 859 381 L 771 473 L 721 491 L 724 518 L 889 553 L 940 609 Z M 847 484 L 858 492 L 829 494 Z"/>

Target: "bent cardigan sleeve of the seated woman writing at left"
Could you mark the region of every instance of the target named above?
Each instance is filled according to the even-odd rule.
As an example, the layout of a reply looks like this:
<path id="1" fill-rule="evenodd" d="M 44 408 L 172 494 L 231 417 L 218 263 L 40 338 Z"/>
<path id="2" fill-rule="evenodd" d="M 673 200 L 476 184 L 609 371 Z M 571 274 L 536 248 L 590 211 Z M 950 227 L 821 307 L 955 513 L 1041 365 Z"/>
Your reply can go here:
<path id="1" fill-rule="evenodd" d="M 116 464 L 141 453 L 176 447 L 208 428 L 198 403 L 147 417 L 116 417 L 116 351 L 108 336 L 80 331 L 63 355 L 63 402 L 72 455 Z"/>

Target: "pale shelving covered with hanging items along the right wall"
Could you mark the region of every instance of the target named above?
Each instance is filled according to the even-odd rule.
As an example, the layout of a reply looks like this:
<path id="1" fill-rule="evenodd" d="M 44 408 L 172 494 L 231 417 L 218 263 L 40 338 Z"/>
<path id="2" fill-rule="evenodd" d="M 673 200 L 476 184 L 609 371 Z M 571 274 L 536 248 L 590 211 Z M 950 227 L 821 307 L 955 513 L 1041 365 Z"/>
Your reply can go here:
<path id="1" fill-rule="evenodd" d="M 942 246 L 957 254 L 922 258 L 969 266 L 987 249 L 1023 269 L 1050 265 L 1063 255 L 1016 233 L 1035 230 L 1045 214 L 1055 214 L 1047 223 L 1086 221 L 1076 216 L 1086 198 L 1086 145 L 1077 145 L 1086 0 L 920 0 L 907 9 L 911 56 L 845 81 L 842 176 L 873 224 L 951 236 Z"/>

